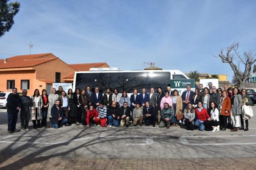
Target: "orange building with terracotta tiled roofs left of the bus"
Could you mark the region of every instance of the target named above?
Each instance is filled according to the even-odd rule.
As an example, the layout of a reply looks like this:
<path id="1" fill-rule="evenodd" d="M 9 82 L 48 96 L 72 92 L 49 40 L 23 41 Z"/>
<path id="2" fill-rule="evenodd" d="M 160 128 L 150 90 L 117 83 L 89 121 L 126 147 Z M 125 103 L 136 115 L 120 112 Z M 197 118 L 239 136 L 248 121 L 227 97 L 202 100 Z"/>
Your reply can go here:
<path id="1" fill-rule="evenodd" d="M 0 91 L 11 92 L 12 88 L 28 90 L 32 96 L 35 89 L 41 93 L 52 90 L 53 82 L 73 83 L 75 71 L 109 67 L 106 63 L 67 64 L 52 53 L 19 55 L 0 59 Z"/>

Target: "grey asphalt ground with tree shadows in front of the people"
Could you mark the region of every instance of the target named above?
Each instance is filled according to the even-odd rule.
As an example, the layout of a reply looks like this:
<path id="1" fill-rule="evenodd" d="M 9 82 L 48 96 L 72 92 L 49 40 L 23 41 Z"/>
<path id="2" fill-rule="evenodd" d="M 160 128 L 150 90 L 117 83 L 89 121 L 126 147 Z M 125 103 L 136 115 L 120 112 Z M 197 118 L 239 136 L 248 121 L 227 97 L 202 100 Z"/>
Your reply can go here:
<path id="1" fill-rule="evenodd" d="M 252 106 L 254 114 L 256 106 Z M 33 129 L 7 133 L 6 109 L 0 109 L 0 154 L 84 156 L 86 158 L 168 159 L 256 156 L 256 118 L 249 131 L 187 131 L 146 126 Z M 17 129 L 20 128 L 18 120 Z"/>

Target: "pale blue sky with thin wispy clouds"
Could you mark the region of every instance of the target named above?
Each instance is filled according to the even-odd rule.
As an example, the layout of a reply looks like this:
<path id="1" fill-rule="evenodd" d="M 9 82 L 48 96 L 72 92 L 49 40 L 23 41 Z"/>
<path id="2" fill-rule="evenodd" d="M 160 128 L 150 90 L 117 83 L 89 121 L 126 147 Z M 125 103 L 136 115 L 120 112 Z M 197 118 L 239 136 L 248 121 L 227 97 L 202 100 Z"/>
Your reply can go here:
<path id="1" fill-rule="evenodd" d="M 0 58 L 53 53 L 66 63 L 107 62 L 123 70 L 154 62 L 165 70 L 227 74 L 218 55 L 256 49 L 255 0 L 18 0 Z M 7 53 L 7 54 L 4 54 Z M 8 55 L 11 54 L 11 55 Z"/>

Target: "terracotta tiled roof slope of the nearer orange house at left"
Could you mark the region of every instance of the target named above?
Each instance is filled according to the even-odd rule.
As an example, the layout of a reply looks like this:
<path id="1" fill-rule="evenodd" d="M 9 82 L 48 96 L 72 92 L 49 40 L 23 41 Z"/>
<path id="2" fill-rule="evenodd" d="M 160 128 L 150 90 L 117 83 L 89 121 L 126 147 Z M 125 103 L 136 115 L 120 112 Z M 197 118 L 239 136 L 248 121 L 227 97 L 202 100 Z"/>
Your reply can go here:
<path id="1" fill-rule="evenodd" d="M 17 55 L 8 58 L 7 63 L 4 63 L 4 59 L 0 59 L 0 69 L 32 67 L 55 59 L 57 57 L 52 53 Z"/>

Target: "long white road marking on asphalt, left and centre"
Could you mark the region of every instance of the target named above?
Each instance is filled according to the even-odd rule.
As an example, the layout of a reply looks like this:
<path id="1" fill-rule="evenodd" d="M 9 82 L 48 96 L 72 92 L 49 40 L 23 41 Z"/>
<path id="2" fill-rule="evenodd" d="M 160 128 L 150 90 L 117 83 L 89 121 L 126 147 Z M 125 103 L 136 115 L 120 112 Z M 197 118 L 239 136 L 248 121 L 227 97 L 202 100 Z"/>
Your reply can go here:
<path id="1" fill-rule="evenodd" d="M 36 135 L 8 135 L 6 137 L 3 137 L 2 139 L 8 139 L 12 137 L 18 137 L 18 136 L 30 136 L 30 137 L 36 137 Z M 142 138 L 146 139 L 146 143 L 126 143 L 126 145 L 138 145 L 138 146 L 146 146 L 146 145 L 152 145 L 154 143 L 153 137 L 149 136 L 107 136 L 107 135 L 100 135 L 100 136 L 91 136 L 91 137 L 84 137 L 84 138 L 78 138 L 74 140 L 67 140 L 67 141 L 60 141 L 60 142 L 26 142 L 26 141 L 0 141 L 0 143 L 18 143 L 18 144 L 42 144 L 42 145 L 57 145 L 57 144 L 63 144 L 63 143 L 72 143 L 72 142 L 77 142 L 77 141 L 85 141 L 89 139 L 95 139 L 95 138 L 121 138 L 121 139 L 137 139 L 137 138 Z"/>

